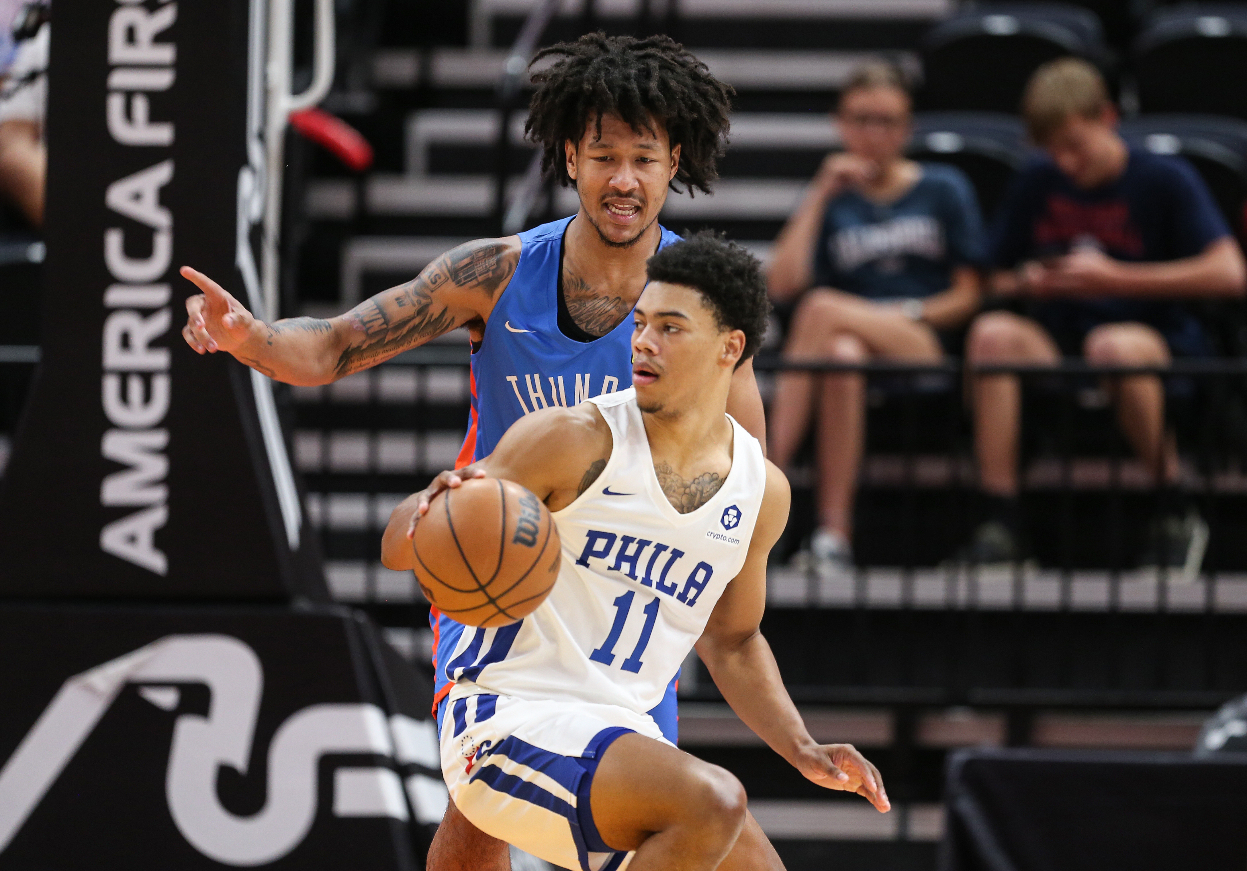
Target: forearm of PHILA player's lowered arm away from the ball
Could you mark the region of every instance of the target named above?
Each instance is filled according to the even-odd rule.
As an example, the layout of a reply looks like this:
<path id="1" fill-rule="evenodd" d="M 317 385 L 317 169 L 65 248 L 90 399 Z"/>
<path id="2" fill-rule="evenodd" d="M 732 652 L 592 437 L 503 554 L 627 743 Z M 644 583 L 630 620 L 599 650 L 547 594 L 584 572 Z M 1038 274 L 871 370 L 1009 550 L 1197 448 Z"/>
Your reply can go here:
<path id="1" fill-rule="evenodd" d="M 723 699 L 772 750 L 793 763 L 802 750 L 814 746 L 761 632 L 727 647 L 703 635 L 697 653 Z"/>

